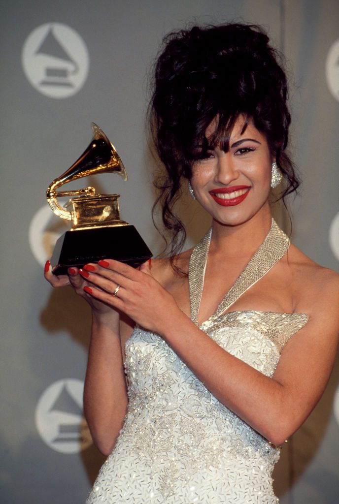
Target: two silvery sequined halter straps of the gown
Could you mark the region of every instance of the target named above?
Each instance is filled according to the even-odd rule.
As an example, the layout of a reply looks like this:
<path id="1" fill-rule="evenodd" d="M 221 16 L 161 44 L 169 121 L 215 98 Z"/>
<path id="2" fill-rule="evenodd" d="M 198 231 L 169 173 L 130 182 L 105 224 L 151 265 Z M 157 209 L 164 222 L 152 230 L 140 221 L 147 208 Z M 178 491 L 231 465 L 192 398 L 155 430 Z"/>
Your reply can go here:
<path id="1" fill-rule="evenodd" d="M 194 247 L 190 258 L 188 279 L 191 319 L 196 325 L 198 325 L 198 312 L 204 286 L 211 236 L 212 229 L 210 229 Z M 266 238 L 207 321 L 214 320 L 222 315 L 242 294 L 258 282 L 282 257 L 284 257 L 289 245 L 290 239 L 284 231 L 277 226 L 274 219 L 272 219 L 271 228 Z"/>

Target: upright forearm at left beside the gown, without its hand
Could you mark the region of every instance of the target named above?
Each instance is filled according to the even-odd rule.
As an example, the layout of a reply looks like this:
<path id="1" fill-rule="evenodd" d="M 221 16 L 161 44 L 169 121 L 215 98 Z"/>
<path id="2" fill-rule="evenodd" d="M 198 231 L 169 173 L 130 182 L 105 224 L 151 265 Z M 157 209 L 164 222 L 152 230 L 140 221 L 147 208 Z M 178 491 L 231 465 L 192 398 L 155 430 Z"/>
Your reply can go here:
<path id="1" fill-rule="evenodd" d="M 84 412 L 99 450 L 108 455 L 123 426 L 128 399 L 119 315 L 93 314 L 84 389 Z"/>

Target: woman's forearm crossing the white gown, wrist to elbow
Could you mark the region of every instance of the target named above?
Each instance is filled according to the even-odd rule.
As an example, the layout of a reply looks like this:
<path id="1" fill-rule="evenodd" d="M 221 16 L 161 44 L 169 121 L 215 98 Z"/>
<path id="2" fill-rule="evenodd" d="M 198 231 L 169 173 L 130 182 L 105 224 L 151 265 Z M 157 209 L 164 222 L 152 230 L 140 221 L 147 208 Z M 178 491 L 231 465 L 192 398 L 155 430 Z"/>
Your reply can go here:
<path id="1" fill-rule="evenodd" d="M 223 350 L 185 314 L 173 320 L 161 336 L 208 390 L 273 444 L 283 442 L 290 428 L 285 419 L 288 391 Z"/>

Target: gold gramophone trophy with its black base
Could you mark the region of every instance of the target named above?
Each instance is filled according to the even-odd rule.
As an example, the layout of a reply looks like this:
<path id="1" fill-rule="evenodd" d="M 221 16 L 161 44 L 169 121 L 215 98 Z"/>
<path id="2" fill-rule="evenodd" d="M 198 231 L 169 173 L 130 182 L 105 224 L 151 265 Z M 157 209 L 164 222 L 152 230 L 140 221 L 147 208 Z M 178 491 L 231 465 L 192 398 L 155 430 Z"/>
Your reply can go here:
<path id="1" fill-rule="evenodd" d="M 137 267 L 152 257 L 135 227 L 120 219 L 120 195 L 95 194 L 94 187 L 57 192 L 65 183 L 99 173 L 118 173 L 127 180 L 114 146 L 94 122 L 91 127 L 93 136 L 87 149 L 47 189 L 47 201 L 53 212 L 72 221 L 72 228 L 58 239 L 54 248 L 51 263 L 55 275 L 100 259 L 116 259 Z M 65 196 L 78 196 L 65 205 L 66 210 L 58 202 L 58 197 Z"/>

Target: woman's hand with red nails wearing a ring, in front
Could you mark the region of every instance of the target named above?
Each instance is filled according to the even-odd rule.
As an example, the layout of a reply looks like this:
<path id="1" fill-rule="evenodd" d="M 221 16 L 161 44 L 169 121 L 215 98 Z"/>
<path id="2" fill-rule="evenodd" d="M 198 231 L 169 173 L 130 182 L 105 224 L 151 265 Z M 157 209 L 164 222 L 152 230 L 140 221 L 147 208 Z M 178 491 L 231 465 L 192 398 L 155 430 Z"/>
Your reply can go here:
<path id="1" fill-rule="evenodd" d="M 162 335 L 180 308 L 151 275 L 150 265 L 139 270 L 114 260 L 87 264 L 80 274 L 90 285 L 84 290 L 95 299 L 121 310 L 143 328 Z"/>

